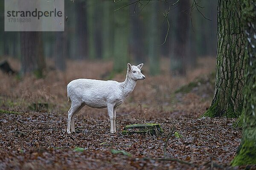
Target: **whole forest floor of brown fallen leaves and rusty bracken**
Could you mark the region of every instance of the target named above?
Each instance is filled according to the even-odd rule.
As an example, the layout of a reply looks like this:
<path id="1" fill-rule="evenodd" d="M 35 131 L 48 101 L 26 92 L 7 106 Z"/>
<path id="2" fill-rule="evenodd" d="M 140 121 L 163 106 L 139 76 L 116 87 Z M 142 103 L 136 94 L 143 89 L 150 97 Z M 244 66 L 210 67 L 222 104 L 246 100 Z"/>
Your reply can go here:
<path id="1" fill-rule="evenodd" d="M 17 61 L 9 62 L 19 68 Z M 231 169 L 242 133 L 232 126 L 235 119 L 200 118 L 214 93 L 214 59 L 201 59 L 183 78 L 167 74 L 165 60 L 161 76 L 147 76 L 145 67 L 147 79 L 117 109 L 116 134 L 109 133 L 106 109 L 88 107 L 76 116 L 76 133 L 66 133 L 67 82 L 108 79 L 112 67 L 69 63 L 66 74 L 49 68 L 44 79 L 0 72 L 0 169 Z M 124 77 L 125 72 L 112 79 Z M 47 108 L 35 109 L 36 103 Z M 163 135 L 122 135 L 125 125 L 145 122 L 159 123 Z"/>

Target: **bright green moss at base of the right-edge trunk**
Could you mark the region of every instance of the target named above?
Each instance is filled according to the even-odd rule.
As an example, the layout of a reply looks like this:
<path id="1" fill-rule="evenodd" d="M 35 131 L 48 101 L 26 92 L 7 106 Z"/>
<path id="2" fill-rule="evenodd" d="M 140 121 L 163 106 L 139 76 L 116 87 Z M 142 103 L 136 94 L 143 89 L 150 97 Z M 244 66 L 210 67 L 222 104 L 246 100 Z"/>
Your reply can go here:
<path id="1" fill-rule="evenodd" d="M 232 166 L 255 165 L 256 164 L 256 143 L 245 141 L 241 144 L 238 154 L 231 162 Z"/>

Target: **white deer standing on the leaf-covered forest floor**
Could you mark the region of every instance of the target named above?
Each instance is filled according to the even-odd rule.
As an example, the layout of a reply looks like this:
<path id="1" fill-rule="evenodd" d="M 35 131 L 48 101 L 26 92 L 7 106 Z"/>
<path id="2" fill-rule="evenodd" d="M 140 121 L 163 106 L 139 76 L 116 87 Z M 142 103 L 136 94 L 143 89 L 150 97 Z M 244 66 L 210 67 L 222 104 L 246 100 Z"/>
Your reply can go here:
<path id="1" fill-rule="evenodd" d="M 68 111 L 67 133 L 75 132 L 74 115 L 85 105 L 91 108 L 108 108 L 110 133 L 116 132 L 116 108 L 121 105 L 136 85 L 137 80 L 145 79 L 141 73 L 143 63 L 137 66 L 127 64 L 124 82 L 113 80 L 75 79 L 67 85 L 67 97 L 71 100 Z"/>

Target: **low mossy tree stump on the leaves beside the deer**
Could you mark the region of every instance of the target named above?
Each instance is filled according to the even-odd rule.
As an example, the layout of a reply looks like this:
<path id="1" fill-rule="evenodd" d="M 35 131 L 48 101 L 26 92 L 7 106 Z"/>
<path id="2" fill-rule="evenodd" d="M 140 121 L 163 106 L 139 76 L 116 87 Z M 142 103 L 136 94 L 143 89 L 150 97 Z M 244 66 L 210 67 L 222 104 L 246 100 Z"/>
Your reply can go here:
<path id="1" fill-rule="evenodd" d="M 161 128 L 159 123 L 133 124 L 125 126 L 122 134 L 143 134 L 151 136 L 161 136 L 163 134 L 163 129 Z"/>

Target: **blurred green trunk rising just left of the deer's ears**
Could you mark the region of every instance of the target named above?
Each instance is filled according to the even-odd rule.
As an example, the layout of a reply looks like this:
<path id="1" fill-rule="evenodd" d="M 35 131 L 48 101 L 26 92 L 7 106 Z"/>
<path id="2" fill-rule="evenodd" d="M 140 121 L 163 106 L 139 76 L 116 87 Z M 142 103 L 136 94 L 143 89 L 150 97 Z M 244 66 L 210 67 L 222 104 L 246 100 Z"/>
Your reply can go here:
<path id="1" fill-rule="evenodd" d="M 122 0 L 118 4 L 124 6 L 128 3 L 128 0 Z M 114 12 L 114 31 L 114 71 L 120 72 L 126 69 L 128 62 L 128 10 L 121 9 Z"/>

